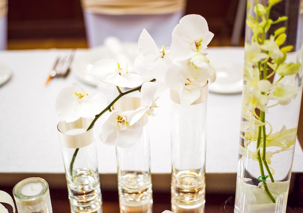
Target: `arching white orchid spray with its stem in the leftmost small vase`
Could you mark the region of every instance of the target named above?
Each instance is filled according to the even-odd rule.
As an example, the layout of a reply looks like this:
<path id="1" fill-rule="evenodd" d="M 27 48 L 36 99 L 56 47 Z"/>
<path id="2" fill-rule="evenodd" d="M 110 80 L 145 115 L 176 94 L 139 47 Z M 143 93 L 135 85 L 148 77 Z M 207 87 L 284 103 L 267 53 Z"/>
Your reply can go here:
<path id="1" fill-rule="evenodd" d="M 115 86 L 117 97 L 109 104 L 106 95 L 88 94 L 81 86 L 73 84 L 61 90 L 56 100 L 56 111 L 62 120 L 75 121 L 80 117 L 93 117 L 95 122 L 108 113 L 103 123 L 100 140 L 107 145 L 128 148 L 140 139 L 142 117 L 156 115 L 156 101 L 168 89 L 178 93 L 182 105 L 190 105 L 200 96 L 200 89 L 215 79 L 215 71 L 206 57 L 207 45 L 213 33 L 207 21 L 199 15 L 182 17 L 172 32 L 170 49 L 157 48 L 151 35 L 143 29 L 138 39 L 139 55 L 134 62 L 102 59 L 95 63 L 91 74 L 101 82 Z M 118 44 L 117 44 L 118 45 Z M 115 104 L 125 97 L 139 97 L 141 106 L 127 112 L 115 109 Z M 102 110 L 103 109 L 103 110 Z M 70 173 L 76 159 L 75 150 Z"/>

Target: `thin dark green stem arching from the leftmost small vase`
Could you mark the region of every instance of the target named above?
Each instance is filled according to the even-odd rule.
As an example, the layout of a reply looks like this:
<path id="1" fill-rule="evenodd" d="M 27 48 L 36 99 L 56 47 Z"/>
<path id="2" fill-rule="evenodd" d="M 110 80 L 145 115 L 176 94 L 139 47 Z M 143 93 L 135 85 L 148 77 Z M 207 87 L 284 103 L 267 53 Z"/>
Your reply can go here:
<path id="1" fill-rule="evenodd" d="M 156 81 L 155 79 L 152 79 L 150 82 L 155 82 L 155 81 Z M 131 90 L 128 90 L 126 92 L 121 92 L 120 88 L 117 86 L 117 89 L 119 91 L 119 95 L 113 101 L 111 101 L 110 104 L 108 104 L 108 106 L 101 113 L 99 113 L 98 115 L 95 116 L 95 118 L 91 121 L 91 125 L 88 127 L 88 129 L 86 131 L 89 131 L 93 127 L 93 125 L 95 124 L 95 122 L 98 120 L 98 118 L 101 117 L 101 115 L 105 114 L 106 111 L 110 112 L 111 111 L 111 107 L 114 105 L 114 103 L 117 100 L 119 100 L 123 96 L 125 96 L 127 94 L 130 94 L 132 92 L 140 91 L 141 90 L 141 86 L 138 86 L 138 87 L 136 87 L 134 89 L 131 89 Z M 70 164 L 70 167 L 69 167 L 69 171 L 71 173 L 72 179 L 73 179 L 73 167 L 74 167 L 74 163 L 75 163 L 78 151 L 79 151 L 79 148 L 76 148 L 76 150 L 74 152 L 74 155 L 73 155 L 73 158 L 72 158 L 72 161 L 71 161 L 71 164 Z"/>

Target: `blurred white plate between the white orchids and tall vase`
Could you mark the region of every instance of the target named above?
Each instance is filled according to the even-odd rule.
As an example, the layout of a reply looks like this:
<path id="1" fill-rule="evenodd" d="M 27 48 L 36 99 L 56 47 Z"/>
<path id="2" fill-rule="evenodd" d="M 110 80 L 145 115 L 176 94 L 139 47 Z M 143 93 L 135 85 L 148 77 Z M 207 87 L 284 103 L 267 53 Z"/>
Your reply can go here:
<path id="1" fill-rule="evenodd" d="M 209 91 L 218 94 L 238 94 L 242 92 L 243 65 L 234 62 L 213 63 L 216 80 L 209 84 Z"/>

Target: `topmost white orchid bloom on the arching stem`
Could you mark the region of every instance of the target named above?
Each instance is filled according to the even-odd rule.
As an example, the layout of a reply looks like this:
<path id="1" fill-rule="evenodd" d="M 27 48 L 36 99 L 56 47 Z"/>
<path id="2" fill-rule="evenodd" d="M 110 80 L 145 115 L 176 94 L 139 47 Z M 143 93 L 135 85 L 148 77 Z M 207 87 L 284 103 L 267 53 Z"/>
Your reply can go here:
<path id="1" fill-rule="evenodd" d="M 205 54 L 205 49 L 213 36 L 203 16 L 196 14 L 183 16 L 172 32 L 171 59 L 182 61 L 197 53 Z"/>

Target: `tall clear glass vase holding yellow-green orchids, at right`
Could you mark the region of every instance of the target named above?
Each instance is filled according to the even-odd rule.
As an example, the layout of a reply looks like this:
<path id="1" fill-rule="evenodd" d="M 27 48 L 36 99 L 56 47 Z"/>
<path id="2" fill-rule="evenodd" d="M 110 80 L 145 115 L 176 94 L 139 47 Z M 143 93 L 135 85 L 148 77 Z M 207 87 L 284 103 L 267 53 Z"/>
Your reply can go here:
<path id="1" fill-rule="evenodd" d="M 285 213 L 302 97 L 300 0 L 248 0 L 235 213 Z"/>

